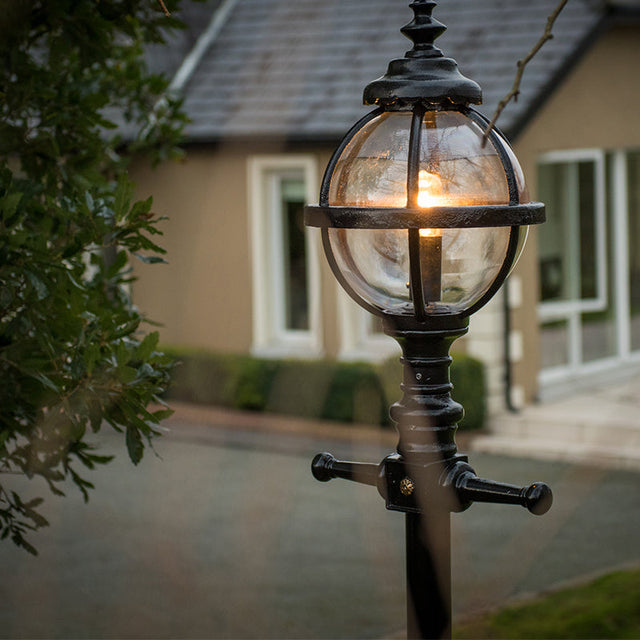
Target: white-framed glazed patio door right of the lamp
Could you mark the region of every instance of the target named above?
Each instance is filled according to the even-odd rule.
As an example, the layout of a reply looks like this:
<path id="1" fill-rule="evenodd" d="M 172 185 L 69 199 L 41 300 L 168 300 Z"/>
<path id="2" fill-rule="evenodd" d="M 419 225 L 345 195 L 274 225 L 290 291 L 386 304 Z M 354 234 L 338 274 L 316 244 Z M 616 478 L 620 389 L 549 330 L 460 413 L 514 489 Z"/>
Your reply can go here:
<path id="1" fill-rule="evenodd" d="M 538 178 L 544 395 L 640 362 L 640 152 L 546 154 Z"/>

